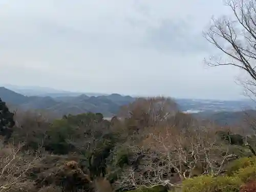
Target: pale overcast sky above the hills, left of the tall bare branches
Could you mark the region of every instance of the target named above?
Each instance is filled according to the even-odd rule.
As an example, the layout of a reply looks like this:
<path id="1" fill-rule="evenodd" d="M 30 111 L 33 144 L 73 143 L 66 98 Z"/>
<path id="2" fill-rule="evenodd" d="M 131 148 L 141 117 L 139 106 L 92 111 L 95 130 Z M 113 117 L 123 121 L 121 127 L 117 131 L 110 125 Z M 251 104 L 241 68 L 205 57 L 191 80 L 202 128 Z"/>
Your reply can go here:
<path id="1" fill-rule="evenodd" d="M 202 31 L 222 0 L 1 0 L 0 82 L 181 98 L 237 99 L 229 67 L 209 68 Z"/>

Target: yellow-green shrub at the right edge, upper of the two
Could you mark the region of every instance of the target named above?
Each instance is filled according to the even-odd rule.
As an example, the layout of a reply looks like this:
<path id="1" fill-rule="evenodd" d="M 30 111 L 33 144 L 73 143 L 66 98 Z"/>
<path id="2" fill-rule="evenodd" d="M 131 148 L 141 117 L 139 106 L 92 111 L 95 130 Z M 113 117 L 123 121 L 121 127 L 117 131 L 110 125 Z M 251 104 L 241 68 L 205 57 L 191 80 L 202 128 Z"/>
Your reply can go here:
<path id="1" fill-rule="evenodd" d="M 232 176 L 240 168 L 246 168 L 251 165 L 256 165 L 256 157 L 243 157 L 243 158 L 234 160 L 227 166 L 226 175 Z"/>

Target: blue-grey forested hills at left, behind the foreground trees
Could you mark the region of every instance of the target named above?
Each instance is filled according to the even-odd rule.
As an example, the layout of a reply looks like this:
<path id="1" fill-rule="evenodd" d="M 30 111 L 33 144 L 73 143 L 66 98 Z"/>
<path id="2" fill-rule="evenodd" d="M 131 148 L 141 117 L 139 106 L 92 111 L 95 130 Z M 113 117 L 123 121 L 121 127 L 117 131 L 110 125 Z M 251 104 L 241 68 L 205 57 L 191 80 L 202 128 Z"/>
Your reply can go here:
<path id="1" fill-rule="evenodd" d="M 0 87 L 0 98 L 10 109 L 41 110 L 56 116 L 80 114 L 86 112 L 102 113 L 105 117 L 117 114 L 120 106 L 131 103 L 135 98 L 119 94 L 88 96 L 25 96 L 12 90 Z"/>

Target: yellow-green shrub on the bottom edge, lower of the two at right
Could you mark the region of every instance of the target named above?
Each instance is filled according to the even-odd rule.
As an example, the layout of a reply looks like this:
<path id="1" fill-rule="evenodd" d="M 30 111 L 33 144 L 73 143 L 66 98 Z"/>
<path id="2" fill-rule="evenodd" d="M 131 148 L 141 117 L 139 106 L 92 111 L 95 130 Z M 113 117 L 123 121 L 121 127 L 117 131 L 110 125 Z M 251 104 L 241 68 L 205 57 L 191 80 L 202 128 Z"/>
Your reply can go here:
<path id="1" fill-rule="evenodd" d="M 183 181 L 183 192 L 236 192 L 242 181 L 238 177 L 202 175 Z"/>

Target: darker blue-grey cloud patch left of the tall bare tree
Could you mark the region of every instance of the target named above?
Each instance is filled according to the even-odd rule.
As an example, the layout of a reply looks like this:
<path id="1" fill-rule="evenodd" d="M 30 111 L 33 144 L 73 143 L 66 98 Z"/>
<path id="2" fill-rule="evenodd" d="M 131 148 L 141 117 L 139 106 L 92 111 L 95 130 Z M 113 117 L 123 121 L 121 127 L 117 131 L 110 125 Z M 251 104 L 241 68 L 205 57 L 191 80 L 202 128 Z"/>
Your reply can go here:
<path id="1" fill-rule="evenodd" d="M 210 49 L 200 31 L 193 31 L 193 26 L 184 20 L 165 19 L 158 27 L 147 29 L 145 45 L 160 52 L 195 54 Z"/>

